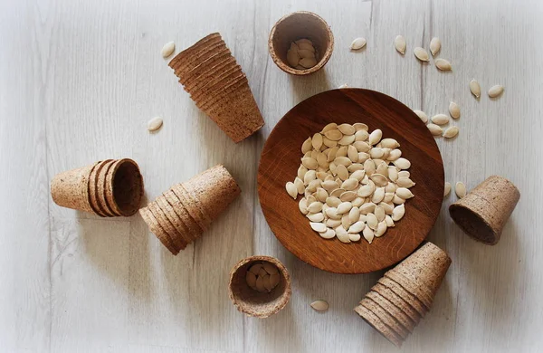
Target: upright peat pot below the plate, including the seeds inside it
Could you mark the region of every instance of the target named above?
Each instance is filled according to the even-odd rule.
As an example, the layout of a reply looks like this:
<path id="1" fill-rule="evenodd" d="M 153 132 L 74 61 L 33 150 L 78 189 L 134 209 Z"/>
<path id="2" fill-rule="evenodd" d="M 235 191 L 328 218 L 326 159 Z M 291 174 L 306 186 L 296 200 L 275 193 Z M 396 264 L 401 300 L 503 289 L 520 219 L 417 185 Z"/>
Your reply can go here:
<path id="1" fill-rule="evenodd" d="M 291 300 L 291 275 L 274 257 L 247 257 L 233 266 L 229 292 L 238 310 L 248 316 L 267 318 Z"/>

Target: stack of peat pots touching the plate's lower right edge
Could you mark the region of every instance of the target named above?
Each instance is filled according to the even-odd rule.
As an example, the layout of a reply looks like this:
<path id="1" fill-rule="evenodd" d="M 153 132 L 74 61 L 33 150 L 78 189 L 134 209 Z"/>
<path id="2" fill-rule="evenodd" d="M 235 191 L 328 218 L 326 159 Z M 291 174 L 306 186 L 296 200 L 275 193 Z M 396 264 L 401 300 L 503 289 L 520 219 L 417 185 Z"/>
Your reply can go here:
<path id="1" fill-rule="evenodd" d="M 379 279 L 355 311 L 386 339 L 400 347 L 432 307 L 451 258 L 425 243 Z"/>

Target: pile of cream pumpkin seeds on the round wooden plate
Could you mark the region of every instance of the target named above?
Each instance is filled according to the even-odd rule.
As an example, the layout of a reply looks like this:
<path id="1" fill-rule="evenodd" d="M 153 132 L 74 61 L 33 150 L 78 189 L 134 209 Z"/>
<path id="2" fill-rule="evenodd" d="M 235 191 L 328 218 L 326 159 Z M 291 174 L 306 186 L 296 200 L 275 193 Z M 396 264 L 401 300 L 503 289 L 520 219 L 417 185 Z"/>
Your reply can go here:
<path id="1" fill-rule="evenodd" d="M 394 227 L 414 197 L 414 182 L 394 138 L 367 125 L 330 123 L 301 146 L 298 176 L 286 185 L 322 238 L 368 243 Z"/>

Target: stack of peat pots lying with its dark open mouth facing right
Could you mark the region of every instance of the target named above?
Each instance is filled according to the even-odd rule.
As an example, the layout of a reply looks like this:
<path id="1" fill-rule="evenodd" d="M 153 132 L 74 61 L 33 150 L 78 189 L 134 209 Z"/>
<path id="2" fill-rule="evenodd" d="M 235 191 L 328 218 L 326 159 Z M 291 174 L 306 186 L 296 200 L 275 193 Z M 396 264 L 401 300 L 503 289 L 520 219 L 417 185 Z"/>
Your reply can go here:
<path id="1" fill-rule="evenodd" d="M 106 159 L 52 178 L 55 204 L 101 217 L 130 216 L 138 212 L 143 177 L 132 159 Z"/>

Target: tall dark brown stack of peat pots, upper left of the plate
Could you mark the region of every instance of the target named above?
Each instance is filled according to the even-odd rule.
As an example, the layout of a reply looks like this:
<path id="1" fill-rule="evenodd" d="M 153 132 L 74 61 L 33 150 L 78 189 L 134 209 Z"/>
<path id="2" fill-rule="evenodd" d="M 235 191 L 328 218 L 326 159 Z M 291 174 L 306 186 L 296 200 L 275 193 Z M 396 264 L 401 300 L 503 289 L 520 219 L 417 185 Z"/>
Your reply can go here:
<path id="1" fill-rule="evenodd" d="M 169 66 L 196 106 L 234 142 L 248 138 L 264 125 L 247 77 L 221 34 L 209 34 L 179 52 Z"/>

